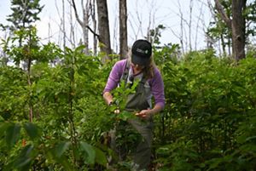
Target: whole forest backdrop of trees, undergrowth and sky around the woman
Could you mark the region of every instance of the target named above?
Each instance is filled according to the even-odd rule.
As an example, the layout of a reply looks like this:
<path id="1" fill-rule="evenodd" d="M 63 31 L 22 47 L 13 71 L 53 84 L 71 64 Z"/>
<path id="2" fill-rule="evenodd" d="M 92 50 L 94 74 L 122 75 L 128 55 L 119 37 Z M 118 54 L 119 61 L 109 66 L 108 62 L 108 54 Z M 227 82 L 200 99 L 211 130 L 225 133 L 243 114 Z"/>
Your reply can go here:
<path id="1" fill-rule="evenodd" d="M 10 2 L 1 24 L 1 170 L 131 170 L 130 158 L 110 165 L 118 157 L 108 133 L 134 117 L 122 110 L 134 88 L 113 92 L 118 116 L 101 93 L 113 63 L 141 37 L 154 45 L 166 94 L 165 110 L 154 117 L 150 169 L 256 167 L 255 1 L 190 0 L 186 11 L 177 1 L 177 13 L 170 10 L 161 22 L 155 17 L 159 1 L 137 4 L 148 7 L 144 16 L 143 8 L 127 13 L 130 2 L 119 0 L 113 26 L 108 1 L 55 1 L 57 33 L 51 24 L 36 24 L 43 1 Z M 164 22 L 170 16 L 175 26 Z M 46 39 L 38 26 L 48 30 Z M 165 31 L 177 42 L 166 42 L 169 35 L 161 39 Z M 125 132 L 118 138 L 129 146 L 138 137 Z"/>

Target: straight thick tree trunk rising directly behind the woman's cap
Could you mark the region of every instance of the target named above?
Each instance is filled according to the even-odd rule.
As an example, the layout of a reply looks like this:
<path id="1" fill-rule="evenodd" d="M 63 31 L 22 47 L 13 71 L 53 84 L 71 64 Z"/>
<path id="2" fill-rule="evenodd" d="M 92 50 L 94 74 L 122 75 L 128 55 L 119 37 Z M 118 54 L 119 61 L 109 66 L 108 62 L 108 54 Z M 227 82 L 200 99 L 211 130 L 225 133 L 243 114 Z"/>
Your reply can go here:
<path id="1" fill-rule="evenodd" d="M 119 43 L 120 43 L 120 60 L 125 59 L 127 45 L 127 6 L 126 0 L 119 0 Z"/>

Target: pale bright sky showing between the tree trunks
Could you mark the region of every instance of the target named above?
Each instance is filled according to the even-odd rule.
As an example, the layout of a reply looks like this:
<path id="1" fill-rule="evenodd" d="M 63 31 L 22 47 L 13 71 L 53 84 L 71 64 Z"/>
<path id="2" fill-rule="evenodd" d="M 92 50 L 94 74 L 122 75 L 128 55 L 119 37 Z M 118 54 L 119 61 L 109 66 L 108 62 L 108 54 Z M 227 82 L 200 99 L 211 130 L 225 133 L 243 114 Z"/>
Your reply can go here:
<path id="1" fill-rule="evenodd" d="M 82 11 L 79 1 L 78 12 L 82 18 Z M 63 22 L 65 22 L 65 31 L 67 32 L 66 42 L 70 44 L 79 43 L 82 36 L 82 29 L 79 26 L 73 14 L 73 7 L 68 1 L 49 1 L 41 0 L 40 3 L 44 4 L 44 9 L 38 14 L 40 20 L 35 22 L 38 28 L 38 37 L 41 38 L 40 42 L 47 43 L 55 42 L 62 46 L 63 44 Z M 63 4 L 64 3 L 64 4 Z M 2 24 L 7 25 L 7 15 L 11 14 L 10 1 L 0 3 L 0 20 Z M 191 7 L 191 11 L 189 10 Z M 119 2 L 117 0 L 108 2 L 109 14 L 109 27 L 111 37 L 111 47 L 113 51 L 118 51 L 119 48 Z M 65 11 L 64 18 L 62 10 Z M 191 13 L 191 16 L 189 16 Z M 73 14 L 71 16 L 71 14 Z M 191 39 L 193 48 L 204 48 L 205 43 L 205 30 L 211 21 L 212 14 L 208 8 L 207 2 L 191 1 L 130 1 L 127 3 L 127 30 L 128 30 L 128 44 L 131 46 L 137 38 L 143 38 L 147 35 L 148 29 L 154 29 L 156 26 L 162 24 L 166 27 L 161 31 L 160 43 L 179 43 L 179 33 L 181 32 L 180 24 L 183 20 L 183 30 L 189 33 L 189 17 L 191 17 Z M 90 20 L 90 25 L 92 25 Z M 70 31 L 75 30 L 74 38 L 70 37 Z M 195 34 L 195 32 L 198 32 Z M 2 37 L 4 36 L 2 32 Z M 197 38 L 195 36 L 197 35 Z M 92 33 L 89 33 L 90 48 L 92 47 Z M 185 38 L 183 38 L 185 40 Z M 186 37 L 187 42 L 188 36 Z M 197 39 L 197 40 L 195 40 Z M 72 43 L 69 41 L 72 40 Z M 187 43 L 188 44 L 188 43 Z M 195 45 L 197 44 L 197 46 Z M 187 46 L 186 48 L 189 48 Z"/>

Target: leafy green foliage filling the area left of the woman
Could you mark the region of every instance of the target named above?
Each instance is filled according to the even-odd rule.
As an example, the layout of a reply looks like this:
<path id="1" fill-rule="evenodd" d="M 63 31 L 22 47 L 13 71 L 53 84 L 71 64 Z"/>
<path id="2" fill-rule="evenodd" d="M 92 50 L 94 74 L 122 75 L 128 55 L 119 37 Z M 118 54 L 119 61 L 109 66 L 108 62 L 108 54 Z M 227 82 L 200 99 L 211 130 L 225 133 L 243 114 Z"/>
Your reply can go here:
<path id="1" fill-rule="evenodd" d="M 91 94 L 96 95 L 99 88 L 103 89 L 103 82 L 92 74 L 99 72 L 100 60 L 85 56 L 83 49 L 83 46 L 74 50 L 67 48 L 63 52 L 49 43 L 44 45 L 42 51 L 39 48 L 35 50 L 35 53 L 47 54 L 50 58 L 34 58 L 37 63 L 32 66 L 33 83 L 29 87 L 26 84 L 25 71 L 10 66 L 1 67 L 3 91 L 0 94 L 5 97 L 0 100 L 1 116 L 5 121 L 0 127 L 5 140 L 1 141 L 1 153 L 7 154 L 6 157 L 1 155 L 1 168 L 4 165 L 6 170 L 58 167 L 76 170 L 82 161 L 89 168 L 93 168 L 96 163 L 106 166 L 107 158 L 102 150 L 89 144 L 86 149 L 85 142 L 81 141 L 90 140 L 90 143 L 96 144 L 90 135 L 88 139 L 84 139 L 86 128 L 83 129 L 81 117 L 88 117 L 88 112 L 94 117 L 95 112 L 91 112 L 90 104 L 84 104 L 83 100 L 91 100 L 91 104 L 95 105 L 102 97 L 93 97 Z M 12 50 L 10 48 L 10 51 Z M 49 61 L 62 58 L 63 60 L 54 67 L 48 64 Z M 29 101 L 34 104 L 32 107 L 37 123 L 17 123 L 28 119 Z M 104 106 L 102 102 L 102 111 L 105 110 Z M 90 111 L 87 112 L 88 108 Z M 91 130 L 91 126 L 88 129 Z M 99 123 L 96 127 L 101 126 Z M 4 146 L 11 151 L 7 151 Z"/>

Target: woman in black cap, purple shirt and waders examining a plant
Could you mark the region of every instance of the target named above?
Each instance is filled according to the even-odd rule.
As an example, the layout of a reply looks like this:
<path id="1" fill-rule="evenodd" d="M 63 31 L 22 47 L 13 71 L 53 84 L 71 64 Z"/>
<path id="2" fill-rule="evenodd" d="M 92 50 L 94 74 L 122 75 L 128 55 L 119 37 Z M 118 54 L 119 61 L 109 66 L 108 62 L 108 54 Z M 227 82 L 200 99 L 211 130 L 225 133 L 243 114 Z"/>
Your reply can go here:
<path id="1" fill-rule="evenodd" d="M 137 111 L 135 114 L 137 119 L 128 120 L 128 123 L 143 137 L 137 145 L 134 162 L 138 169 L 147 169 L 153 139 L 152 117 L 165 106 L 164 83 L 160 71 L 154 66 L 152 46 L 147 40 L 140 39 L 133 43 L 128 59 L 119 60 L 113 66 L 103 91 L 103 98 L 108 105 L 113 103 L 111 91 L 121 80 L 125 80 L 125 83 L 139 81 L 136 93 L 127 97 L 125 110 Z M 151 104 L 152 97 L 154 97 L 154 107 Z"/>

